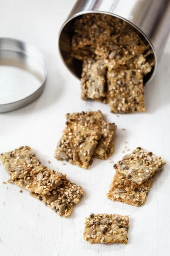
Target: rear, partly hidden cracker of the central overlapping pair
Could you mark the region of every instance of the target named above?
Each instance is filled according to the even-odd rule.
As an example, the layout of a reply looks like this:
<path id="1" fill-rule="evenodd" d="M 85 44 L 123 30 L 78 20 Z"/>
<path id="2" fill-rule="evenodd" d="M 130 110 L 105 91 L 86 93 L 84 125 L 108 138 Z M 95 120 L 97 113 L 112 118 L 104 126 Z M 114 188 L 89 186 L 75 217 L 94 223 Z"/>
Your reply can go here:
<path id="1" fill-rule="evenodd" d="M 66 115 L 67 120 L 79 123 L 85 129 L 98 131 L 100 138 L 93 157 L 105 160 L 113 154 L 114 137 L 117 126 L 115 123 L 105 122 L 101 111 L 89 111 Z"/>

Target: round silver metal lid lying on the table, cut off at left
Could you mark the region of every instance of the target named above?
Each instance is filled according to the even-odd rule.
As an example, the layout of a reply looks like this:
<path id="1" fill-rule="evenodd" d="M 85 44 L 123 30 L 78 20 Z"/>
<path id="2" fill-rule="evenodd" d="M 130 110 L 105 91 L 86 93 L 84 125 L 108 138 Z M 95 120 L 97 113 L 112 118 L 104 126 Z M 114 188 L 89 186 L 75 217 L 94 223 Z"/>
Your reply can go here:
<path id="1" fill-rule="evenodd" d="M 0 38 L 0 113 L 33 102 L 44 90 L 47 62 L 34 45 Z"/>

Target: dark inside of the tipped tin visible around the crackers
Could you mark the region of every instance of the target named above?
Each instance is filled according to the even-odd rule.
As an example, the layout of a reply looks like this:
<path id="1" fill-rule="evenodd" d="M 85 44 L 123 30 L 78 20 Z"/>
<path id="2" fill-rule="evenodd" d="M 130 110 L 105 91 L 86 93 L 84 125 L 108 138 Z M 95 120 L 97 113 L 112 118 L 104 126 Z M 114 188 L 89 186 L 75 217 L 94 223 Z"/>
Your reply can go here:
<path id="1" fill-rule="evenodd" d="M 59 44 L 59 52 L 60 52 L 61 58 L 62 58 L 63 62 L 65 63 L 66 67 L 68 67 L 68 69 L 71 71 L 71 73 L 73 73 L 74 76 L 76 76 L 78 79 L 81 78 L 82 61 L 79 61 L 76 58 L 71 57 L 71 38 L 74 35 L 74 23 L 75 23 L 75 21 L 77 19 L 81 18 L 82 15 L 89 14 L 89 13 L 94 13 L 94 12 L 80 13 L 77 16 L 72 17 L 70 20 L 67 20 L 63 24 L 62 28 L 60 29 L 60 33 L 59 33 L 58 44 Z M 95 13 L 100 13 L 102 15 L 101 12 L 95 12 Z M 112 14 L 108 14 L 108 15 L 118 17 L 117 15 L 112 15 Z M 120 18 L 121 20 L 124 20 L 122 17 L 118 17 L 118 18 Z M 127 20 L 125 20 L 125 21 L 127 23 L 129 23 Z M 133 30 L 135 28 L 136 32 L 138 32 L 138 34 L 140 33 L 140 37 L 144 41 L 147 40 L 147 42 L 150 44 L 151 49 L 154 52 L 152 44 L 145 37 L 145 35 L 139 29 L 137 29 L 133 24 L 131 24 L 131 23 L 129 23 L 129 24 L 133 27 Z M 155 65 L 152 67 L 152 70 L 150 71 L 150 73 L 148 73 L 147 75 L 145 75 L 143 77 L 144 84 L 149 82 L 153 78 L 153 75 L 155 73 L 155 70 L 156 70 L 156 55 L 155 55 L 155 52 L 154 52 L 153 58 L 155 60 Z"/>

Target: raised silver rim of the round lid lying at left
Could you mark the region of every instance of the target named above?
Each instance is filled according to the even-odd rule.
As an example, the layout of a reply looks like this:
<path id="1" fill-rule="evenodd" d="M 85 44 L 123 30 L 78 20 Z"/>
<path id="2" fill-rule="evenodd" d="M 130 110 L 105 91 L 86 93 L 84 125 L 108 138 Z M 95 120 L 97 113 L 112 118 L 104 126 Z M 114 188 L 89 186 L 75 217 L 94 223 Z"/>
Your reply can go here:
<path id="1" fill-rule="evenodd" d="M 45 88 L 45 84 L 46 84 L 46 80 L 47 80 L 47 76 L 48 76 L 47 60 L 45 58 L 44 53 L 38 47 L 36 47 L 34 44 L 27 43 L 25 41 L 20 41 L 15 38 L 0 38 L 0 41 L 3 41 L 3 40 L 8 41 L 9 43 L 14 42 L 19 45 L 21 44 L 21 45 L 24 45 L 25 47 L 31 47 L 35 51 L 37 51 L 37 54 L 40 56 L 40 58 L 42 58 L 42 63 L 40 63 L 40 64 L 41 64 L 41 67 L 44 69 L 44 73 L 43 73 L 43 80 L 42 80 L 40 86 L 37 88 L 37 90 L 35 90 L 33 93 L 29 94 L 28 96 L 26 96 L 22 99 L 11 101 L 11 102 L 4 103 L 4 104 L 0 104 L 0 113 L 15 111 L 17 109 L 23 108 L 23 107 L 31 104 L 32 102 L 34 102 L 34 100 L 37 99 L 42 94 L 42 92 Z M 30 57 L 29 53 L 31 54 L 31 51 L 24 51 L 21 48 L 14 49 L 12 47 L 10 48 L 10 47 L 4 46 L 4 47 L 0 48 L 0 51 L 3 51 L 3 50 L 22 53 L 26 57 Z M 32 54 L 32 56 L 34 56 L 35 58 L 39 57 L 34 54 Z"/>

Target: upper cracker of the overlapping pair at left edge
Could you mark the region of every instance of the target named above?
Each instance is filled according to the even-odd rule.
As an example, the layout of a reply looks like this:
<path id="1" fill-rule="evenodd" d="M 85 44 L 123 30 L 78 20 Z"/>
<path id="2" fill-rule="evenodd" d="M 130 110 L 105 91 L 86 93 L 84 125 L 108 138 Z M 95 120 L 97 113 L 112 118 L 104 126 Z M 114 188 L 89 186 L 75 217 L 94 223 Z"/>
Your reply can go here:
<path id="1" fill-rule="evenodd" d="M 48 194 L 66 176 L 42 166 L 34 150 L 28 146 L 3 153 L 0 159 L 10 175 L 9 183 L 35 193 Z"/>

